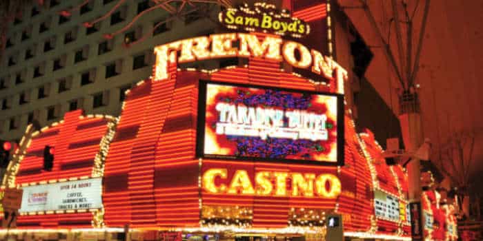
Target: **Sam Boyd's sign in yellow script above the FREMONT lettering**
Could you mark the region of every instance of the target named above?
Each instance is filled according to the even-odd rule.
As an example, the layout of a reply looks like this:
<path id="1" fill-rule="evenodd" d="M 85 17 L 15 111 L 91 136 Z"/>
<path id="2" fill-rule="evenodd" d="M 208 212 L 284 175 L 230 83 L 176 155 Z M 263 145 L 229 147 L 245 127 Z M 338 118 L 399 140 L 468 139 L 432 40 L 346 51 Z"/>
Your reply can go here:
<path id="1" fill-rule="evenodd" d="M 302 19 L 292 17 L 286 10 L 278 11 L 275 5 L 268 3 L 255 3 L 253 9 L 248 4 L 239 8 L 228 8 L 219 13 L 218 19 L 226 28 L 248 32 L 290 35 L 295 38 L 311 32 L 311 26 Z"/>

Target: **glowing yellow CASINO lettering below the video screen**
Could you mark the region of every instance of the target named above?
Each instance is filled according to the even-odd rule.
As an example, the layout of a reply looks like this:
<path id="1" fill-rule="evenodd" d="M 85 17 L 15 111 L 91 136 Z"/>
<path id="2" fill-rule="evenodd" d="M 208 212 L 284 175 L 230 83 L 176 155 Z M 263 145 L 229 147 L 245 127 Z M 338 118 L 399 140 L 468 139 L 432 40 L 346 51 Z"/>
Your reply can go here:
<path id="1" fill-rule="evenodd" d="M 333 199 L 337 198 L 342 190 L 339 178 L 333 174 L 255 171 L 254 176 L 250 177 L 248 171 L 238 169 L 233 176 L 228 177 L 227 169 L 212 168 L 204 171 L 201 179 L 204 191 L 219 194 L 275 197 L 319 196 Z"/>

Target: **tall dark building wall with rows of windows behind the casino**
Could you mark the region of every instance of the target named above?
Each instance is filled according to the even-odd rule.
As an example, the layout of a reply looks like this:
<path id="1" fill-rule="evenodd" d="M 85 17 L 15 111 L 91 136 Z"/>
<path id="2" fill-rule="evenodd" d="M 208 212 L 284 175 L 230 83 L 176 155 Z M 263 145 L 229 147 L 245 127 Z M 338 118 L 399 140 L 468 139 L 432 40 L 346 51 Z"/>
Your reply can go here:
<path id="1" fill-rule="evenodd" d="M 59 2 L 57 6 L 52 3 Z M 12 45 L 6 48 L 0 60 L 0 137 L 18 139 L 23 134 L 26 125 L 32 118 L 37 119 L 41 126 L 58 121 L 63 113 L 72 109 L 84 109 L 86 114 L 119 115 L 121 110 L 121 95 L 133 83 L 148 78 L 152 73 L 154 58 L 152 50 L 156 45 L 198 36 L 213 31 L 214 24 L 207 18 L 190 19 L 179 18 L 157 28 L 159 34 L 153 33 L 153 26 L 158 21 L 168 17 L 168 12 L 158 9 L 137 19 L 132 28 L 126 33 L 134 31 L 137 38 L 144 37 L 144 41 L 126 48 L 125 34 L 118 34 L 108 41 L 110 51 L 99 54 L 99 45 L 107 41 L 103 34 L 110 34 L 120 30 L 130 23 L 137 15 L 142 4 L 149 0 L 125 1 L 115 10 L 119 12 L 121 20 L 111 24 L 112 17 L 107 17 L 96 24 L 99 30 L 91 34 L 86 33 L 82 23 L 93 21 L 111 10 L 118 1 L 90 1 L 90 11 L 80 14 L 79 10 L 72 11 L 68 21 L 59 22 L 59 12 L 79 5 L 83 1 L 44 1 L 44 6 L 27 6 L 20 23 L 10 23 L 7 39 Z M 38 13 L 32 16 L 32 8 Z M 219 9 L 212 6 L 211 9 Z M 196 19 L 195 21 L 190 21 Z M 185 21 L 186 20 L 186 21 Z M 17 22 L 17 21 L 16 21 Z M 115 22 L 115 21 L 114 21 Z M 113 22 L 113 23 L 114 23 Z M 48 27 L 40 32 L 41 25 Z M 64 43 L 66 33 L 72 32 L 74 40 Z M 25 34 L 23 34 L 25 32 Z M 22 35 L 28 36 L 22 40 Z M 46 41 L 51 41 L 52 50 L 44 51 Z M 30 50 L 32 57 L 26 59 L 26 52 Z M 83 61 L 75 62 L 76 52 L 83 52 Z M 133 69 L 135 58 L 145 55 L 144 67 Z M 141 58 L 141 57 L 139 57 Z M 59 70 L 53 70 L 55 61 L 63 65 Z M 13 62 L 14 64 L 10 63 Z M 106 76 L 108 65 L 115 64 L 118 74 Z M 42 76 L 34 77 L 36 68 Z M 82 83 L 82 74 L 90 72 L 92 83 Z M 95 74 L 94 74 L 95 72 Z M 21 76 L 21 83 L 16 83 L 17 75 Z M 59 92 L 59 83 L 66 80 L 68 90 Z M 2 87 L 3 86 L 3 87 Z M 39 89 L 43 87 L 45 97 L 39 96 Z M 20 103 L 21 95 L 26 103 Z M 102 96 L 99 96 L 102 94 Z M 100 100 L 100 101 L 99 101 Z M 77 107 L 70 103 L 77 101 Z M 5 108 L 3 108 L 3 102 Z M 100 102 L 100 103 L 99 103 Z M 49 114 L 50 108 L 50 114 Z M 29 117 L 30 115 L 30 117 Z"/>

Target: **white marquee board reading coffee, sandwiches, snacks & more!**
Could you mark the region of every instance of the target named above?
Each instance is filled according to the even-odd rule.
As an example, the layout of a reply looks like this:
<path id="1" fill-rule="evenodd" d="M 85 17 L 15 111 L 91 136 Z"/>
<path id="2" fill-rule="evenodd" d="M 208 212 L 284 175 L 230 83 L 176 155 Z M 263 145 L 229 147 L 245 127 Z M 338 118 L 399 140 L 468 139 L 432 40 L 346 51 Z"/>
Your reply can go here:
<path id="1" fill-rule="evenodd" d="M 20 212 L 101 208 L 101 178 L 23 187 Z"/>

